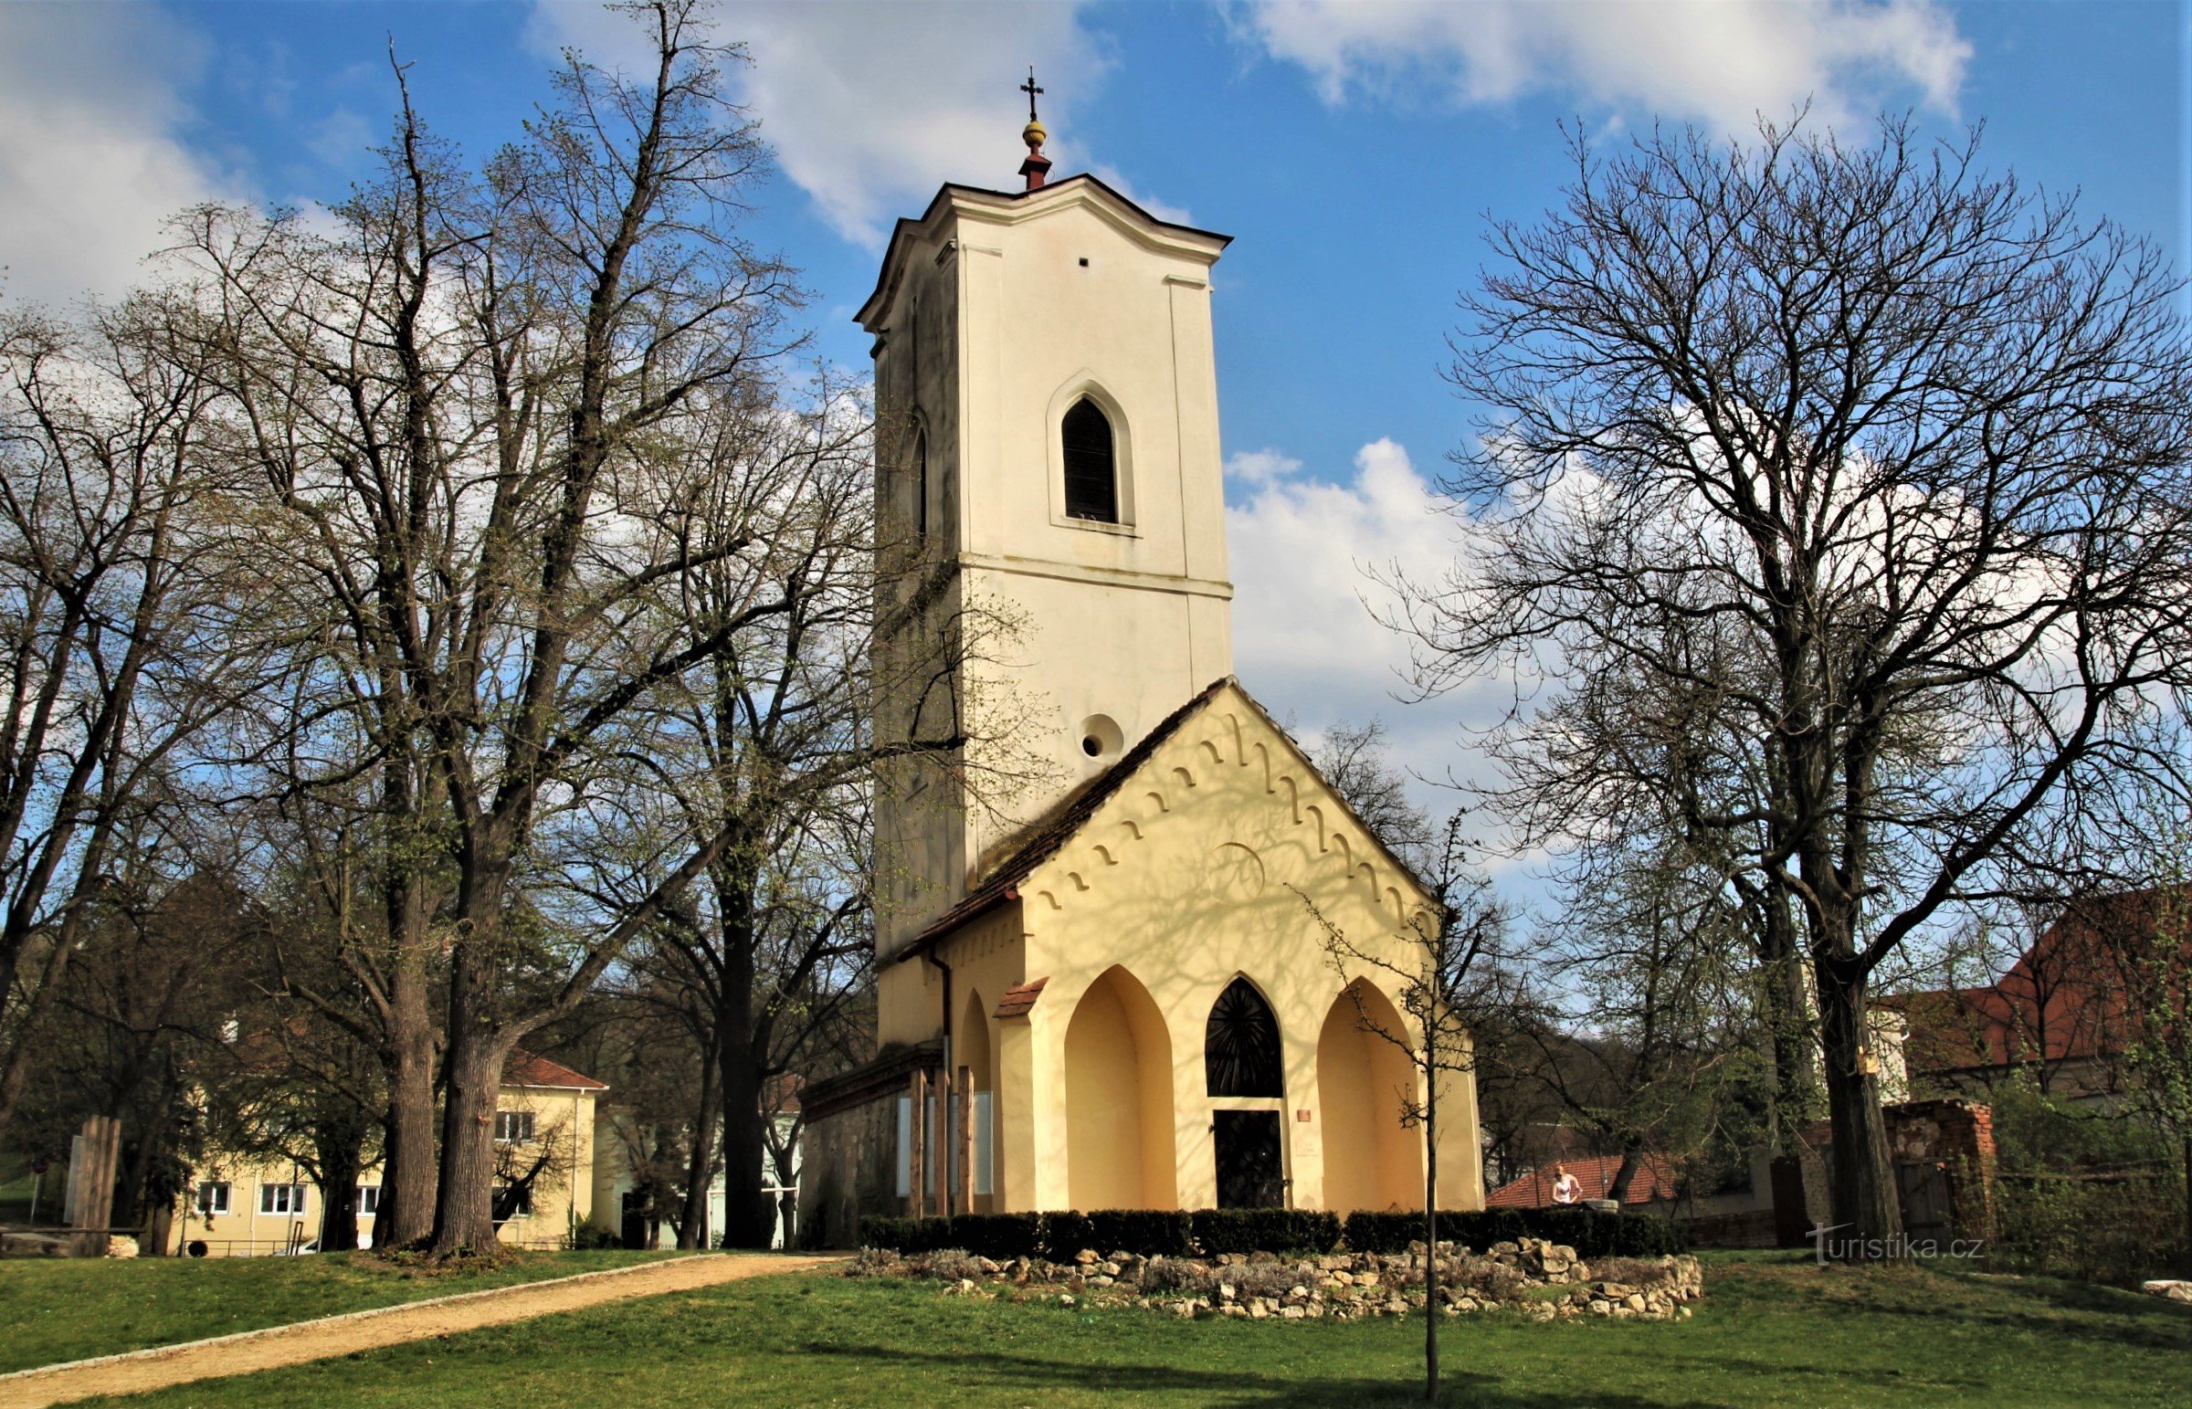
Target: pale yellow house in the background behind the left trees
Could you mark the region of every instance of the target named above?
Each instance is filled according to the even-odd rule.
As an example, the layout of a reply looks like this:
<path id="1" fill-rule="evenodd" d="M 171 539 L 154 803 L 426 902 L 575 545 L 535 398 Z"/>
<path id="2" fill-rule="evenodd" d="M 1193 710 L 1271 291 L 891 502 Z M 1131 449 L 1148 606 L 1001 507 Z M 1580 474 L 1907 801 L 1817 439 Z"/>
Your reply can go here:
<path id="1" fill-rule="evenodd" d="M 594 1210 L 592 1076 L 513 1052 L 495 1100 L 495 1236 L 509 1247 L 566 1247 Z M 357 1245 L 373 1247 L 379 1166 L 357 1183 Z M 287 1159 L 213 1150 L 197 1168 L 173 1245 L 210 1258 L 318 1251 L 327 1194 Z"/>

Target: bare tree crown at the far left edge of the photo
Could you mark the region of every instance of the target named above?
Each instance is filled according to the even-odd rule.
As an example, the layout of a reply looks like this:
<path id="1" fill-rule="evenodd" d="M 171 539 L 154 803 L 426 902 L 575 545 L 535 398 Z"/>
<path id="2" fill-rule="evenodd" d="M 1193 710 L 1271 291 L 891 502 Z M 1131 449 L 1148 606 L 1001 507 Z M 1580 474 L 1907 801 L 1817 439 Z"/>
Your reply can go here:
<path id="1" fill-rule="evenodd" d="M 153 296 L 0 320 L 0 1129 L 116 828 L 256 681 L 217 388 L 164 322 Z"/>

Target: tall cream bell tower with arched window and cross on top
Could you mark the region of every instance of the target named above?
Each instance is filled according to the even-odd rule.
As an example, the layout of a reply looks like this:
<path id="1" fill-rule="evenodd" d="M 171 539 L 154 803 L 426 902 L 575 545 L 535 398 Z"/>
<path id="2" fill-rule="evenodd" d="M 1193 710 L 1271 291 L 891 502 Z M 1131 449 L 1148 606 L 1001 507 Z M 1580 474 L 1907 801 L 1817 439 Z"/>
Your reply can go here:
<path id="1" fill-rule="evenodd" d="M 901 219 L 875 337 L 879 728 L 964 738 L 877 789 L 877 949 L 1232 673 L 1210 270 L 1228 237 L 1092 175 Z M 892 603 L 899 609 L 892 609 Z M 949 642 L 947 668 L 918 662 Z"/>

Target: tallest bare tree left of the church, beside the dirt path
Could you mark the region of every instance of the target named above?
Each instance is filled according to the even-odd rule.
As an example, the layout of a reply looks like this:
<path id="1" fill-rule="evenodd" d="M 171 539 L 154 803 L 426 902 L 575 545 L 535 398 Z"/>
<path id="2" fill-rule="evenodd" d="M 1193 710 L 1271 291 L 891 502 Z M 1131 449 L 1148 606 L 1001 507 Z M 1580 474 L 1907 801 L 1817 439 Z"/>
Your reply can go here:
<path id="1" fill-rule="evenodd" d="M 723 99 L 721 66 L 741 53 L 712 44 L 686 0 L 627 13 L 649 70 L 568 55 L 557 105 L 480 171 L 406 99 L 386 175 L 340 210 L 340 232 L 232 213 L 193 230 L 270 522 L 327 605 L 302 717 L 340 717 L 370 745 L 388 942 L 449 955 L 443 1253 L 493 1242 L 506 1054 L 570 1012 L 732 837 L 690 837 L 633 909 L 576 923 L 535 925 L 530 868 L 561 826 L 583 826 L 607 760 L 649 752 L 655 692 L 789 609 L 662 609 L 664 583 L 756 548 L 708 513 L 690 478 L 708 462 L 664 449 L 767 403 L 796 294 L 737 234 L 763 160 Z M 324 778 L 344 769 L 331 758 Z M 445 866 L 445 892 L 406 857 Z M 406 1091 L 414 1026 L 403 1017 Z M 392 1159 L 414 1159 L 412 1135 L 392 1131 Z"/>

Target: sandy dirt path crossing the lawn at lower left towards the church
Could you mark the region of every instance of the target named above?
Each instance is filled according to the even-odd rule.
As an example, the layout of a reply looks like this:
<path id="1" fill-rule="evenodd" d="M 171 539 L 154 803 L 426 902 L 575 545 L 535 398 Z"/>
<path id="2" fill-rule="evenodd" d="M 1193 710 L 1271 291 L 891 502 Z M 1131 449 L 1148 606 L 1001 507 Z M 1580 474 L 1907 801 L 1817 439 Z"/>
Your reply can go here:
<path id="1" fill-rule="evenodd" d="M 655 1297 L 671 1291 L 737 1282 L 739 1278 L 809 1271 L 829 1262 L 835 1262 L 835 1258 L 704 1253 L 697 1258 L 671 1258 L 666 1262 L 579 1273 L 574 1278 L 557 1278 L 555 1282 L 522 1282 L 517 1286 L 491 1286 L 454 1297 L 434 1297 L 432 1302 L 377 1306 L 318 1321 L 243 1330 L 210 1341 L 153 1345 L 151 1350 L 129 1350 L 125 1354 L 99 1356 L 96 1361 L 42 1365 L 37 1370 L 0 1374 L 0 1409 L 44 1409 L 44 1405 L 66 1405 L 92 1398 L 94 1394 L 145 1394 L 147 1389 L 302 1365 L 357 1350 L 478 1330 L 480 1326 L 530 1321 L 533 1317 L 583 1310 L 603 1302 L 623 1302 L 625 1297 Z"/>

